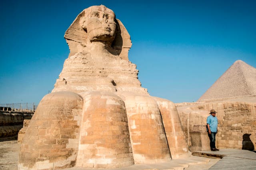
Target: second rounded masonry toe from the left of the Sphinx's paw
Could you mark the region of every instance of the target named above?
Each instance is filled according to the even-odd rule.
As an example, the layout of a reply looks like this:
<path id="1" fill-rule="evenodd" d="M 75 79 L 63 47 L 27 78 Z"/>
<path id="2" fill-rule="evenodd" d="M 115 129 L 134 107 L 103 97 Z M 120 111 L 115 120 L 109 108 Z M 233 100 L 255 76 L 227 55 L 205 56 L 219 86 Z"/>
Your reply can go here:
<path id="1" fill-rule="evenodd" d="M 109 92 L 83 92 L 81 96 L 84 107 L 77 166 L 120 168 L 134 164 L 122 99 Z"/>

